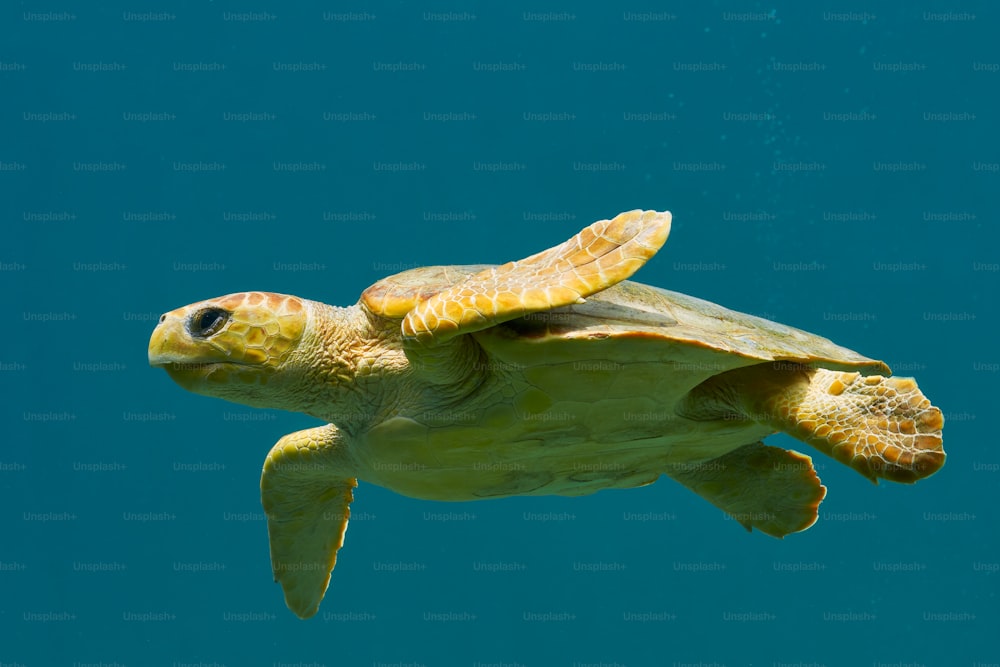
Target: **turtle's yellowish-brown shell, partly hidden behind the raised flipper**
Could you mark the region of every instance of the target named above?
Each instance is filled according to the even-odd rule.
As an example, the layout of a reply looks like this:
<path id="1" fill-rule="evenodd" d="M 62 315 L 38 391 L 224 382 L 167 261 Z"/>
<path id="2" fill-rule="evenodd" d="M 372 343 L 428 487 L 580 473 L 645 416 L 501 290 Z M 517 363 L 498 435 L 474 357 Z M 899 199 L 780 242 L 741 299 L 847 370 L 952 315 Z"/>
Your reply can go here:
<path id="1" fill-rule="evenodd" d="M 487 268 L 490 265 L 404 271 L 369 287 L 361 303 L 382 317 L 402 319 L 420 301 Z M 787 361 L 864 375 L 890 374 L 881 361 L 822 336 L 632 281 L 593 294 L 585 303 L 532 313 L 472 335 L 503 362 L 527 366 L 543 359 L 659 361 L 702 364 L 701 370 L 711 375 L 764 361 Z M 590 343 L 576 344 L 585 341 Z"/>

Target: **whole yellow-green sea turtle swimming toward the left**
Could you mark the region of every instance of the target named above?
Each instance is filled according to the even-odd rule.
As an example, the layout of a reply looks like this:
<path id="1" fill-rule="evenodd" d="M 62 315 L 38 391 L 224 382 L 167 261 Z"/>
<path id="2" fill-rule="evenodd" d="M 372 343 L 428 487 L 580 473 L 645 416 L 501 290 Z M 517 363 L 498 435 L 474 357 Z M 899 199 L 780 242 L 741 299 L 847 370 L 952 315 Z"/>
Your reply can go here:
<path id="1" fill-rule="evenodd" d="M 149 361 L 185 389 L 303 412 L 261 476 L 274 576 L 319 608 L 358 480 L 430 500 L 576 496 L 667 475 L 747 529 L 804 530 L 826 494 L 783 431 L 872 481 L 945 460 L 910 378 L 825 338 L 628 282 L 669 213 L 630 211 L 502 266 L 378 281 L 348 308 L 269 292 L 166 313 Z"/>

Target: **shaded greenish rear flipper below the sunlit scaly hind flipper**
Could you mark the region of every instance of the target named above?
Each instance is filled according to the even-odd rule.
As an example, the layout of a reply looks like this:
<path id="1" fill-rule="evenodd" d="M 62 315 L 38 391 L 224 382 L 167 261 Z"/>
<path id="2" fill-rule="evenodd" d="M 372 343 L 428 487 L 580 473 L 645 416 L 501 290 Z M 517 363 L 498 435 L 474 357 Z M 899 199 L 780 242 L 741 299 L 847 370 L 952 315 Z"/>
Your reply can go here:
<path id="1" fill-rule="evenodd" d="M 816 523 L 826 496 L 811 458 L 760 442 L 711 461 L 674 464 L 666 472 L 747 530 L 772 537 Z"/>

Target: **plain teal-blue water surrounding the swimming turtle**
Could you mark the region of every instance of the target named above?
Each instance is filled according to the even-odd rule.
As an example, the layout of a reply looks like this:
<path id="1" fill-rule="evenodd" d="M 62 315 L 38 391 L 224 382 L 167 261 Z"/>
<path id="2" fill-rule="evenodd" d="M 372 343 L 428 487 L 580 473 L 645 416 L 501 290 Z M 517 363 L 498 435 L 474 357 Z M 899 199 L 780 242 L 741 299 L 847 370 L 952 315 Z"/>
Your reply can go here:
<path id="1" fill-rule="evenodd" d="M 995 3 L 7 3 L 0 665 L 1000 664 Z M 914 375 L 948 462 L 816 454 L 776 540 L 668 479 L 429 503 L 362 484 L 320 613 L 260 468 L 316 425 L 183 391 L 160 313 L 349 305 L 634 208 L 636 279 Z M 814 453 L 776 435 L 770 444 Z"/>

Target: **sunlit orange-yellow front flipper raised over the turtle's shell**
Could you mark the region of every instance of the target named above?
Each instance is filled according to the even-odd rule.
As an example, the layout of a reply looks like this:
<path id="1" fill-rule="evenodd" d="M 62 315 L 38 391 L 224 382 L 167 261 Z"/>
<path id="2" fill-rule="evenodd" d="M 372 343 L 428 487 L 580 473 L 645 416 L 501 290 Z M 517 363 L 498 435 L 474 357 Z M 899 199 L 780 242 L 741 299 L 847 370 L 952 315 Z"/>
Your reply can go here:
<path id="1" fill-rule="evenodd" d="M 554 248 L 435 294 L 407 314 L 403 336 L 439 345 L 529 313 L 582 303 L 638 271 L 669 233 L 670 213 L 629 211 L 595 222 Z"/>

